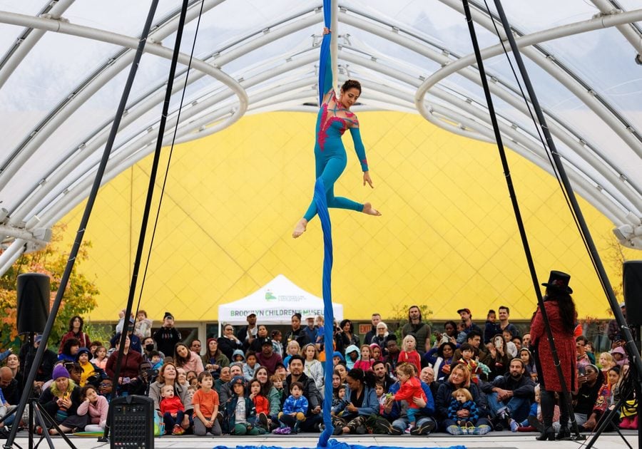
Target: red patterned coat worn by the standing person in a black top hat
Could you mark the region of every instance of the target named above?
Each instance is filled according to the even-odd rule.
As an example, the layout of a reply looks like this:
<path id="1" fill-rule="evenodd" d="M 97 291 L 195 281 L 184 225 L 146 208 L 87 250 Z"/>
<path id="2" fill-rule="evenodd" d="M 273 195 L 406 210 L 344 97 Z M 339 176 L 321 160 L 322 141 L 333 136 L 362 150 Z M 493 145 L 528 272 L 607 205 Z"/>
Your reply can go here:
<path id="1" fill-rule="evenodd" d="M 561 320 L 561 313 L 557 301 L 545 301 L 546 315 L 551 324 L 551 331 L 557 349 L 557 356 L 559 363 L 564 374 L 566 381 L 566 388 L 569 391 L 575 391 L 577 388 L 577 370 L 576 359 L 577 352 L 575 349 L 575 339 L 573 334 L 568 334 L 564 331 Z M 546 336 L 546 329 L 544 328 L 544 320 L 541 317 L 539 307 L 531 321 L 531 346 L 534 346 L 535 363 L 537 373 L 541 381 L 542 389 L 548 391 L 562 391 L 557 369 L 553 363 L 553 356 L 551 353 L 551 345 Z"/>

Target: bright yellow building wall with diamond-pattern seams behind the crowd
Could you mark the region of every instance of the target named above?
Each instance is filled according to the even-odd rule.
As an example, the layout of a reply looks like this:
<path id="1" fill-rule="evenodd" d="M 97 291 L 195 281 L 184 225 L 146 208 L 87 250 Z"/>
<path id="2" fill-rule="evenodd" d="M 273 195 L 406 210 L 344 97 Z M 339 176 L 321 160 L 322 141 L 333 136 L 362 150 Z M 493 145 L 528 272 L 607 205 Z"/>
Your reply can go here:
<path id="1" fill-rule="evenodd" d="M 312 199 L 315 118 L 251 115 L 175 147 L 140 305 L 152 319 L 167 310 L 179 321 L 215 321 L 220 304 L 277 274 L 321 296 L 320 222 L 291 237 Z M 377 311 L 386 318 L 427 304 L 432 319 L 452 319 L 467 306 L 484 321 L 487 309 L 504 304 L 511 319 L 529 319 L 536 296 L 496 146 L 447 133 L 419 115 L 361 113 L 360 123 L 375 188 L 362 186 L 347 135 L 348 165 L 335 193 L 370 201 L 383 215 L 331 211 L 332 292 L 345 316 L 367 320 Z M 163 155 L 164 167 L 167 149 Z M 81 265 L 101 291 L 93 321 L 116 320 L 126 305 L 151 158 L 98 195 L 85 234 L 90 260 Z M 551 269 L 569 272 L 580 316 L 608 316 L 556 180 L 512 152 L 509 162 L 540 282 Z M 598 250 L 610 259 L 611 222 L 580 204 Z M 84 207 L 63 220 L 69 244 Z M 607 269 L 619 284 L 621 273 L 612 264 Z"/>

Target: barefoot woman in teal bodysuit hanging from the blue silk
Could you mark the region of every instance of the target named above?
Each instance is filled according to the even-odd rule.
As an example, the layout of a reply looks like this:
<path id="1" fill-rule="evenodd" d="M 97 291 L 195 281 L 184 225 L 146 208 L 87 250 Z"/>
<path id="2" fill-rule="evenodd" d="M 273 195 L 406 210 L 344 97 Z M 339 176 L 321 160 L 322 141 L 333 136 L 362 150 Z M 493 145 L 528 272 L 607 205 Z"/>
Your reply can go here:
<path id="1" fill-rule="evenodd" d="M 323 33 L 330 33 L 330 29 L 324 28 Z M 331 58 L 327 57 L 326 61 L 323 86 L 319 86 L 320 92 L 323 93 L 323 99 L 317 114 L 315 175 L 317 178 L 321 177 L 324 182 L 327 193 L 327 207 L 355 210 L 367 215 L 381 215 L 378 210 L 372 207 L 370 202 L 361 204 L 348 198 L 335 197 L 335 182 L 337 182 L 347 164 L 347 155 L 341 140 L 341 136 L 347 129 L 350 129 L 352 142 L 355 143 L 355 151 L 361 163 L 363 185 L 367 183 L 371 188 L 374 188 L 374 185 L 372 185 L 372 179 L 368 171 L 365 148 L 359 131 L 359 120 L 357 120 L 355 113 L 350 112 L 350 107 L 357 103 L 361 95 L 361 84 L 359 81 L 347 80 L 343 83 L 340 95 L 337 98 L 332 81 Z M 294 232 L 292 232 L 292 237 L 297 238 L 303 234 L 307 223 L 315 215 L 317 215 L 317 206 L 312 200 L 303 218 L 297 222 Z"/>

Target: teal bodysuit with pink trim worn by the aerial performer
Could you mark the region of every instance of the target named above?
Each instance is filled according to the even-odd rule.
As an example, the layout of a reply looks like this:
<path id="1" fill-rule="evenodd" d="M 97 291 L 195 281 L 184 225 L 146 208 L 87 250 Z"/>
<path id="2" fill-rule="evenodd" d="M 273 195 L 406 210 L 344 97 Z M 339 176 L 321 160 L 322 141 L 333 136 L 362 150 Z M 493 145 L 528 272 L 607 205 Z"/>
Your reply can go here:
<path id="1" fill-rule="evenodd" d="M 330 62 L 330 58 L 327 59 L 328 62 Z M 326 79 L 324 81 L 323 92 L 330 93 L 330 96 L 327 101 L 322 103 L 317 114 L 315 176 L 323 179 L 327 194 L 327 207 L 362 212 L 362 204 L 349 200 L 348 198 L 335 197 L 335 182 L 339 179 L 347 164 L 347 155 L 341 140 L 341 136 L 345 133 L 346 129 L 350 128 L 350 135 L 352 135 L 352 141 L 355 143 L 355 151 L 361 162 L 362 171 L 368 171 L 368 162 L 366 160 L 365 148 L 361 141 L 357 115 L 351 113 L 350 110 L 339 107 L 339 101 L 332 88 L 332 69 L 328 67 L 325 73 Z M 334 103 L 332 108 L 328 107 L 330 103 Z M 337 115 L 339 113 L 345 115 L 345 117 Z M 317 215 L 317 206 L 314 200 L 312 200 L 303 218 L 310 221 L 315 215 Z"/>

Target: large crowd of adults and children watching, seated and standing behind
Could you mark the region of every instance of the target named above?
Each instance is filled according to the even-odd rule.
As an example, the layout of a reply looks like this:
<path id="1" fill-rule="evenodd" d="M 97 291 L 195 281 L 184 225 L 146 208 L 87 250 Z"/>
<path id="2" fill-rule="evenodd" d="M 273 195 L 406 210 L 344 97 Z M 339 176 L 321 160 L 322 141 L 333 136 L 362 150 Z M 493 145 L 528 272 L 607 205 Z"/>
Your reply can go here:
<path id="1" fill-rule="evenodd" d="M 305 316 L 302 323 L 300 314 L 293 315 L 292 330 L 283 336 L 250 314 L 247 326 L 235 330 L 225 324 L 222 336 L 202 345 L 181 341 L 169 312 L 152 334 L 151 320 L 139 311 L 129 320 L 122 349 L 124 314 L 107 344 L 91 341 L 83 319 L 74 316 L 58 353 L 45 351 L 34 396 L 66 433 L 103 430 L 116 394 L 152 398 L 164 433 L 171 435 L 320 432 L 325 394 L 332 394 L 335 435 L 541 432 L 529 334 L 519 335 L 505 306 L 498 309 L 499 319 L 489 311 L 484 329 L 474 324 L 469 309 L 457 313 L 458 322 L 447 321 L 443 331 L 432 333 L 412 306 L 401 341 L 379 314 L 372 315 L 364 341 L 345 319 L 335 326 L 331 358 L 325 357 L 322 316 Z M 40 342 L 36 337 L 34 351 L 26 344 L 19 355 L 0 354 L 6 358 L 0 368 L 0 418 L 19 402 L 27 359 Z M 628 361 L 619 340 L 597 359 L 584 336 L 577 336 L 576 346 L 575 418 L 582 430 L 593 430 L 618 402 Z M 327 363 L 333 367 L 332 386 L 325 385 Z M 635 411 L 623 413 L 621 422 L 618 413 L 611 428 L 637 428 L 636 420 Z M 0 430 L 15 422 L 24 425 L 24 419 L 9 416 Z"/>

